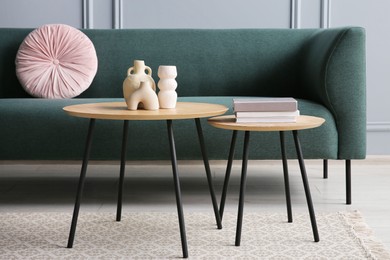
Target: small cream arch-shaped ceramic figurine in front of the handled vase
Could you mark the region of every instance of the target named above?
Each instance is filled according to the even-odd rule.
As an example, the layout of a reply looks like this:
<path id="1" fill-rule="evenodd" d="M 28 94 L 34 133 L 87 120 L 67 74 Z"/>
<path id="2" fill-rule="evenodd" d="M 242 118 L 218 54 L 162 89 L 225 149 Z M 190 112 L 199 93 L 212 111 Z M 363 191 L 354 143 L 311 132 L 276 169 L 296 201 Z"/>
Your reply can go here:
<path id="1" fill-rule="evenodd" d="M 127 100 L 127 108 L 130 110 L 137 110 L 139 104 L 143 104 L 143 108 L 146 110 L 157 110 L 159 108 L 157 94 L 152 89 L 149 81 L 141 81 L 140 87 Z"/>

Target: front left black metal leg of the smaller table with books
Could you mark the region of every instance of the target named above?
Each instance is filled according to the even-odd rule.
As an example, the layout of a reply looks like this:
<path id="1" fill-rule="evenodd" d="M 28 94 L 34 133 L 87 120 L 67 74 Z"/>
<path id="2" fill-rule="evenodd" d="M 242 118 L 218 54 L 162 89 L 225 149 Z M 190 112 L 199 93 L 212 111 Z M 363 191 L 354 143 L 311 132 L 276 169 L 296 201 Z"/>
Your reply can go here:
<path id="1" fill-rule="evenodd" d="M 244 151 L 242 155 L 242 169 L 241 169 L 241 184 L 240 184 L 240 199 L 238 203 L 238 217 L 237 217 L 237 228 L 236 228 L 236 246 L 240 246 L 241 243 L 241 231 L 242 231 L 242 219 L 244 214 L 244 197 L 246 188 L 246 173 L 248 166 L 248 148 L 249 148 L 249 135 L 250 131 L 245 131 L 244 138 Z"/>

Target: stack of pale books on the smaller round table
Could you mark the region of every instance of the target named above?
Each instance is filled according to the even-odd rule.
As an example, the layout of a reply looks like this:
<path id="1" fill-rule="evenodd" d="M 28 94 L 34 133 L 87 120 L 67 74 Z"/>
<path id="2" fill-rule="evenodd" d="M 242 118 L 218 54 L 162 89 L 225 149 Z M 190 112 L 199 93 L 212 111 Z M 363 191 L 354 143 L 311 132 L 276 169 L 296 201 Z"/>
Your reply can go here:
<path id="1" fill-rule="evenodd" d="M 294 98 L 235 98 L 237 123 L 296 122 L 298 102 Z"/>

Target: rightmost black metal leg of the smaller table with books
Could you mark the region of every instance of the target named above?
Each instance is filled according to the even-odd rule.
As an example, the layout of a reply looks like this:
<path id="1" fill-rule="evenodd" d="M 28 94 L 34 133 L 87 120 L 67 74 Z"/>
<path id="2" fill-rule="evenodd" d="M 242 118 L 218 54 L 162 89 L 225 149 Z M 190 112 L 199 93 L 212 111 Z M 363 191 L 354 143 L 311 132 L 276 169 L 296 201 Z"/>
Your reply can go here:
<path id="1" fill-rule="evenodd" d="M 302 182 L 303 182 L 303 186 L 305 188 L 307 206 L 309 208 L 310 221 L 311 221 L 311 226 L 313 229 L 314 241 L 318 242 L 318 241 L 320 241 L 320 238 L 318 235 L 317 222 L 316 222 L 316 217 L 315 217 L 315 213 L 314 213 L 313 201 L 311 199 L 311 194 L 310 194 L 309 181 L 307 179 L 305 163 L 303 161 L 301 145 L 299 143 L 298 131 L 293 130 L 293 135 L 294 135 L 295 148 L 297 150 L 297 156 L 298 156 L 298 160 L 299 160 L 299 167 L 301 169 Z"/>

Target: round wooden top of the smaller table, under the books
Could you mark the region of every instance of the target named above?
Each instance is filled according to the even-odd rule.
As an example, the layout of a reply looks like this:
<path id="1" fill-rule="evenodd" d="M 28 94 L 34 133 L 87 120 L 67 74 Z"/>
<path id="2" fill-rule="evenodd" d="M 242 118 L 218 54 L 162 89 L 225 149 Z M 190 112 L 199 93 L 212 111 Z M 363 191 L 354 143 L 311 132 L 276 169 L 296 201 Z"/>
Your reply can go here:
<path id="1" fill-rule="evenodd" d="M 218 116 L 208 119 L 214 127 L 239 131 L 292 131 L 321 126 L 325 119 L 314 116 L 298 116 L 292 123 L 236 123 L 234 115 Z"/>

